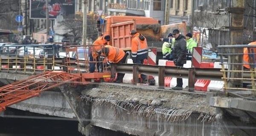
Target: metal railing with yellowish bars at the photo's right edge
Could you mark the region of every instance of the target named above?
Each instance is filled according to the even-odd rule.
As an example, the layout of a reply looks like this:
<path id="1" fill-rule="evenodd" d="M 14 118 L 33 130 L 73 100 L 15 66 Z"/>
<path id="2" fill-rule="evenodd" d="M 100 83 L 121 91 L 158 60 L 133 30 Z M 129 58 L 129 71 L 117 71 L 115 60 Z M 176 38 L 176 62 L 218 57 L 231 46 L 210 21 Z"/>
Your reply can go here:
<path id="1" fill-rule="evenodd" d="M 218 50 L 226 95 L 233 91 L 253 91 L 256 96 L 256 45 L 219 45 Z M 227 62 L 224 57 L 228 58 Z"/>

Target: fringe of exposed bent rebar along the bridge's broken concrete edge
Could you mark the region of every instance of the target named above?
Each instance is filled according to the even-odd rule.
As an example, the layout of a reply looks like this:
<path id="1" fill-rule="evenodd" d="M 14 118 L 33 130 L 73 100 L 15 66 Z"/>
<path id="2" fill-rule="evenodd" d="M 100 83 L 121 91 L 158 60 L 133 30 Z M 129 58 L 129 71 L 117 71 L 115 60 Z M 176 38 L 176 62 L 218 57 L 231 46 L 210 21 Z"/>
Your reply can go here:
<path id="1" fill-rule="evenodd" d="M 111 109 L 118 108 L 128 114 L 142 117 L 146 116 L 149 119 L 156 121 L 160 119 L 163 122 L 182 122 L 188 119 L 192 113 L 198 113 L 184 109 L 162 108 L 156 105 L 143 105 L 137 102 L 122 102 L 88 95 L 80 96 L 80 99 L 84 102 L 90 102 L 95 106 L 108 106 Z M 215 116 L 215 114 L 200 113 L 198 120 L 211 123 L 215 122 Z"/>

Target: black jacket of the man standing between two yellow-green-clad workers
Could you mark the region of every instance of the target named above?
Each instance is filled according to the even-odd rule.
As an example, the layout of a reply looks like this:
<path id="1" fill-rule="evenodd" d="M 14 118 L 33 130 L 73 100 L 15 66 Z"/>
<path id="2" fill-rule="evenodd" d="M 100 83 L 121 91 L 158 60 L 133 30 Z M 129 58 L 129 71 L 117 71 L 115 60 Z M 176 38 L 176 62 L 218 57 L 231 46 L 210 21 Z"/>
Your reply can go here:
<path id="1" fill-rule="evenodd" d="M 173 60 L 175 64 L 186 64 L 186 37 L 182 34 L 175 39 Z"/>

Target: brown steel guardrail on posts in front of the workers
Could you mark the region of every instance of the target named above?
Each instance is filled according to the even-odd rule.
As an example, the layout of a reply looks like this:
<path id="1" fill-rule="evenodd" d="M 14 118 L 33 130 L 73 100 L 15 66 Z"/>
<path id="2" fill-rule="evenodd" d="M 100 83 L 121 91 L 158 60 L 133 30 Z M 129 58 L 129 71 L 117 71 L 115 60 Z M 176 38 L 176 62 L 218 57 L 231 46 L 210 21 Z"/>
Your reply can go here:
<path id="1" fill-rule="evenodd" d="M 159 88 L 164 88 L 164 77 L 189 79 L 189 91 L 194 91 L 195 79 L 208 79 L 223 81 L 220 68 L 183 68 L 143 64 L 115 64 L 111 66 L 111 77 L 116 72 L 133 74 L 134 85 L 138 82 L 138 74 L 158 76 Z"/>

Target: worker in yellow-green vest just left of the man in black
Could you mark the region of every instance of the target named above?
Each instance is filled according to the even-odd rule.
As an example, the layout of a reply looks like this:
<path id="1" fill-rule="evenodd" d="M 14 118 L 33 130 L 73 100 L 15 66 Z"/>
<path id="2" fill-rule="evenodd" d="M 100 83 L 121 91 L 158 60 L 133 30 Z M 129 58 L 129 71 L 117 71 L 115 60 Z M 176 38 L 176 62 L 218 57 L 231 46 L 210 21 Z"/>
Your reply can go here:
<path id="1" fill-rule="evenodd" d="M 168 34 L 167 38 L 160 38 L 160 40 L 164 41 L 162 45 L 163 59 L 173 60 L 172 48 L 175 42 L 175 38 L 173 38 L 173 35 L 170 33 Z"/>

